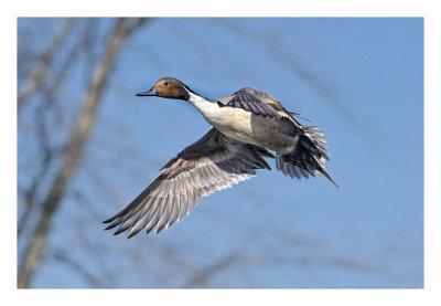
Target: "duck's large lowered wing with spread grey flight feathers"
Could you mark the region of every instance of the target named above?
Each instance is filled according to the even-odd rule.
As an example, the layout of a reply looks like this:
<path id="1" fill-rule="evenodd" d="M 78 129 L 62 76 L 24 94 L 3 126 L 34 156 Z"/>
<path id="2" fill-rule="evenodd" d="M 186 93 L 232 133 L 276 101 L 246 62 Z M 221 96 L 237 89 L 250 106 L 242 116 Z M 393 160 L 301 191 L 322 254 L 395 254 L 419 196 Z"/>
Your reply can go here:
<path id="1" fill-rule="evenodd" d="M 269 169 L 266 149 L 236 141 L 212 128 L 195 144 L 173 157 L 161 175 L 131 203 L 112 218 L 106 230 L 120 225 L 115 234 L 131 228 L 128 238 L 146 229 L 159 233 L 189 214 L 202 197 Z"/>

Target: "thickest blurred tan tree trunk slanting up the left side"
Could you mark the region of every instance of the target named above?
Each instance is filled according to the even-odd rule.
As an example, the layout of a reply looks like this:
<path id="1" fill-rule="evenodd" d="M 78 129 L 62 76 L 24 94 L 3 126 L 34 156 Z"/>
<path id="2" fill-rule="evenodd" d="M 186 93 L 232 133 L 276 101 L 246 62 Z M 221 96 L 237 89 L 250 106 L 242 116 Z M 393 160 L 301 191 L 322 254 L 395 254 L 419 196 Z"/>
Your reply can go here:
<path id="1" fill-rule="evenodd" d="M 117 24 L 109 36 L 103 61 L 93 71 L 89 87 L 71 134 L 64 160 L 55 176 L 55 180 L 53 181 L 47 196 L 45 197 L 45 200 L 43 201 L 41 218 L 24 252 L 18 277 L 19 288 L 29 287 L 35 267 L 41 261 L 53 215 L 60 208 L 61 199 L 65 192 L 66 186 L 76 169 L 83 148 L 94 126 L 99 102 L 118 52 L 128 36 L 136 29 L 142 25 L 144 19 L 137 19 L 135 22 L 127 19 L 118 19 Z"/>

